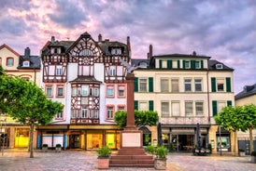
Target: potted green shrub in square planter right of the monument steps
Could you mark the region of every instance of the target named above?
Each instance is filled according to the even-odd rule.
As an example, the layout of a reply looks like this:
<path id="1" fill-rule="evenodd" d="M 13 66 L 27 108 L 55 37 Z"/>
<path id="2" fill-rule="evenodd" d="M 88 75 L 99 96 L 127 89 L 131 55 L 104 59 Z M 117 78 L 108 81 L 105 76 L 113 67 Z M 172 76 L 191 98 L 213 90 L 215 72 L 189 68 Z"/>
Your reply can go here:
<path id="1" fill-rule="evenodd" d="M 156 158 L 154 160 L 154 167 L 157 170 L 166 169 L 167 149 L 164 146 L 158 146 L 155 150 Z"/>

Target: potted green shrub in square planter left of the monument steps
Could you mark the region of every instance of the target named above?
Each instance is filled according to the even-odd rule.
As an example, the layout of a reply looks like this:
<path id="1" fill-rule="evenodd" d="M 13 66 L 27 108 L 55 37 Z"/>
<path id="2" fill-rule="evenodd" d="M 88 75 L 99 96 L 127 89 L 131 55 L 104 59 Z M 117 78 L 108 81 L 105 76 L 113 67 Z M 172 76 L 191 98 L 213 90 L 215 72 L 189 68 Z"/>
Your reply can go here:
<path id="1" fill-rule="evenodd" d="M 104 146 L 97 150 L 98 153 L 98 168 L 109 168 L 109 156 L 111 150 Z"/>

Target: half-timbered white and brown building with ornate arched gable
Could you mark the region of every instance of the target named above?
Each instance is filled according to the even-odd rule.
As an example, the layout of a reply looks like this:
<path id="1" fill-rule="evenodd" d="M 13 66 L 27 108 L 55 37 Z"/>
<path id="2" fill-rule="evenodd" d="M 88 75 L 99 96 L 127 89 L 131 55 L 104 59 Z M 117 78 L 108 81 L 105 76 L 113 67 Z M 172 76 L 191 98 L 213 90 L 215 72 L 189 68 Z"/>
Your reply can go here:
<path id="1" fill-rule="evenodd" d="M 130 38 L 123 44 L 94 40 L 82 33 L 75 41 L 57 41 L 43 47 L 42 87 L 48 99 L 64 104 L 64 111 L 50 125 L 38 126 L 37 148 L 42 144 L 64 149 L 120 147 L 120 129 L 114 113 L 126 111 L 126 69 L 120 59 L 130 62 Z"/>

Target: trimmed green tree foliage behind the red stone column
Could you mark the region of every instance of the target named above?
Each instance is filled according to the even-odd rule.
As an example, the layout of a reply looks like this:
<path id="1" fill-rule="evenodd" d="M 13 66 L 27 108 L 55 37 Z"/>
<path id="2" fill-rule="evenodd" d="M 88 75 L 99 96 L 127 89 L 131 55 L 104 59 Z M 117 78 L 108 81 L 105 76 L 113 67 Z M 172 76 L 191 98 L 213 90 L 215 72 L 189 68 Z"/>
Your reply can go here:
<path id="1" fill-rule="evenodd" d="M 127 112 L 116 112 L 114 121 L 120 128 L 126 126 Z M 159 116 L 157 112 L 150 111 L 136 111 L 135 110 L 135 126 L 139 127 L 141 125 L 157 125 L 159 121 Z"/>

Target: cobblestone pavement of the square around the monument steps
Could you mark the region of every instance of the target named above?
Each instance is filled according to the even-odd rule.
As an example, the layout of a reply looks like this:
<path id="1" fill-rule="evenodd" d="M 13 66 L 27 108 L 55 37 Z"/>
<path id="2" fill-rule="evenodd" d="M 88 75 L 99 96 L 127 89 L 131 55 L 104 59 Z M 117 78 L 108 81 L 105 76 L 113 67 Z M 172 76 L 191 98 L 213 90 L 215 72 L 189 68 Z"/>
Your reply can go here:
<path id="1" fill-rule="evenodd" d="M 0 171 L 92 171 L 97 169 L 95 151 L 35 151 L 11 150 L 0 153 Z M 192 153 L 168 153 L 167 169 L 172 171 L 256 171 L 250 157 L 193 156 Z M 105 169 L 100 169 L 105 170 Z M 154 168 L 111 167 L 109 171 L 148 171 Z"/>

